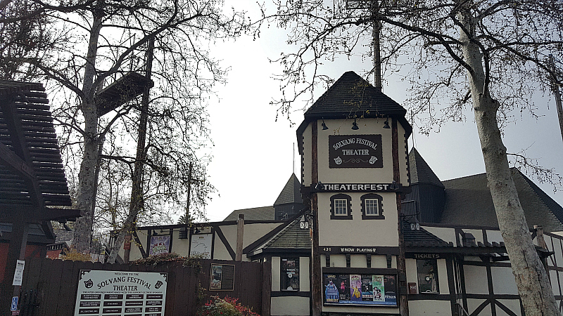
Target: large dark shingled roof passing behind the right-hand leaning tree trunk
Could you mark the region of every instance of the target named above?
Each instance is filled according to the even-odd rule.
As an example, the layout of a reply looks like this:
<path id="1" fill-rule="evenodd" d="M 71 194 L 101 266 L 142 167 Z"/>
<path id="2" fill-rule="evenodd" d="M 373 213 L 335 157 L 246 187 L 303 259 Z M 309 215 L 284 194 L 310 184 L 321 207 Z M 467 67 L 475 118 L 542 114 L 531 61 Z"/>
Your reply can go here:
<path id="1" fill-rule="evenodd" d="M 518 169 L 511 170 L 529 228 L 540 225 L 546 232 L 563 231 L 563 208 Z M 486 173 L 442 183 L 445 206 L 440 223 L 498 227 Z"/>

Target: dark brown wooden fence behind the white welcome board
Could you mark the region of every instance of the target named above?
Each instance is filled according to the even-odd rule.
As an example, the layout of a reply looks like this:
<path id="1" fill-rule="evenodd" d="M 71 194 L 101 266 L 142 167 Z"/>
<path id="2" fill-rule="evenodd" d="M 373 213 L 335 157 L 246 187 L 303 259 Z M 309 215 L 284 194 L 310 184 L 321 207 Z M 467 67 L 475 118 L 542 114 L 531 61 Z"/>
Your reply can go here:
<path id="1" fill-rule="evenodd" d="M 153 265 L 102 264 L 37 258 L 25 261 L 20 315 L 74 315 L 80 270 L 167 272 L 165 316 L 195 315 L 198 303 L 210 296 L 239 298 L 262 316 L 270 314 L 271 263 L 220 261 L 200 259 L 200 267 L 184 267 L 182 263 Z M 234 291 L 210 291 L 212 263 L 234 265 Z M 200 287 L 201 286 L 201 287 Z M 205 298 L 198 300 L 203 288 Z M 262 312 L 263 310 L 263 312 Z"/>

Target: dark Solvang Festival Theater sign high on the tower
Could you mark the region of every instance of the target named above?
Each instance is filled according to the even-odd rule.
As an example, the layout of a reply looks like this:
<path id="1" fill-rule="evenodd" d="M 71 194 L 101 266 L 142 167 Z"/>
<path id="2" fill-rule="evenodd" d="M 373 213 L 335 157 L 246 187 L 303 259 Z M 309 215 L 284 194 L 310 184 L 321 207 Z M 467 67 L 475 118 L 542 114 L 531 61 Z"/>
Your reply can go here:
<path id="1" fill-rule="evenodd" d="M 329 135 L 329 168 L 383 168 L 381 135 Z"/>

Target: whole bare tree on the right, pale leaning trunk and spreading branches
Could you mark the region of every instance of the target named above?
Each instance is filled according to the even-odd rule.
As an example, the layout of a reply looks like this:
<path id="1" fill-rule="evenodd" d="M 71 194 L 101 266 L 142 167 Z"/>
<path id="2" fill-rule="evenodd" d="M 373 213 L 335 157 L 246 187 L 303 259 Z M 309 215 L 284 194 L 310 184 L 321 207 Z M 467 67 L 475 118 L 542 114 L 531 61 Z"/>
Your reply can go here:
<path id="1" fill-rule="evenodd" d="M 548 91 L 550 79 L 561 78 L 561 65 L 550 67 L 548 54 L 558 60 L 563 55 L 563 3 L 330 2 L 276 1 L 277 12 L 264 15 L 262 22 L 275 20 L 289 29 L 288 43 L 298 44 L 297 51 L 282 53 L 277 60 L 285 67 L 279 75 L 285 93 L 276 102 L 279 111 L 286 113 L 296 100 L 310 104 L 313 89 L 331 83 L 319 65 L 339 55 L 361 55 L 359 46 L 371 41 L 374 23 L 381 22 L 381 60 L 386 70 L 397 71 L 401 58 L 409 59 L 407 105 L 414 114 L 430 113 L 426 126 L 461 119 L 463 108 L 472 106 L 488 186 L 526 315 L 558 314 L 514 187 L 499 122 L 514 109 L 534 115 L 532 92 L 538 86 Z M 366 73 L 373 71 L 369 67 Z"/>

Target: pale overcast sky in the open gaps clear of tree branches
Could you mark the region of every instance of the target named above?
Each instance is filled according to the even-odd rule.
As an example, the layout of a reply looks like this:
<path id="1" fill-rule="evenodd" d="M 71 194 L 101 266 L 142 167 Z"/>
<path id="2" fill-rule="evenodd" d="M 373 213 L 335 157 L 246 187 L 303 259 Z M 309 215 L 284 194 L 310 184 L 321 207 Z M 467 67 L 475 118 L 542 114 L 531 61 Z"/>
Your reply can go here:
<path id="1" fill-rule="evenodd" d="M 247 10 L 256 20 L 255 1 L 231 0 L 227 6 Z M 276 108 L 270 101 L 279 98 L 279 84 L 272 78 L 281 67 L 270 63 L 281 51 L 291 48 L 284 43 L 286 37 L 279 29 L 262 31 L 259 39 L 242 37 L 236 41 L 218 43 L 213 55 L 222 59 L 224 67 L 231 68 L 226 86 L 217 86 L 217 98 L 210 100 L 210 130 L 213 161 L 208 166 L 210 181 L 218 190 L 206 207 L 210 221 L 223 220 L 235 209 L 272 205 L 293 172 L 293 145 L 296 128 L 303 120 L 303 110 L 296 106 L 291 119 L 276 121 Z M 338 79 L 344 72 L 371 67 L 360 59 L 341 58 L 326 63 L 325 74 Z M 396 77 L 387 77 L 384 93 L 402 104 L 405 86 Z M 317 91 L 320 96 L 324 91 Z M 537 119 L 526 113 L 514 112 L 504 133 L 508 152 L 521 152 L 539 159 L 544 167 L 563 170 L 563 141 L 559 132 L 555 101 L 537 98 Z M 467 120 L 448 123 L 439 133 L 424 136 L 417 126 L 409 139 L 441 180 L 470 176 L 485 172 L 479 138 L 471 109 L 466 110 Z M 299 157 L 296 155 L 296 174 L 299 177 Z M 563 193 L 553 192 L 553 187 L 540 185 L 548 195 L 563 204 Z"/>

